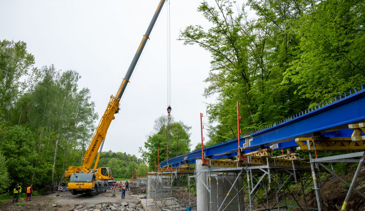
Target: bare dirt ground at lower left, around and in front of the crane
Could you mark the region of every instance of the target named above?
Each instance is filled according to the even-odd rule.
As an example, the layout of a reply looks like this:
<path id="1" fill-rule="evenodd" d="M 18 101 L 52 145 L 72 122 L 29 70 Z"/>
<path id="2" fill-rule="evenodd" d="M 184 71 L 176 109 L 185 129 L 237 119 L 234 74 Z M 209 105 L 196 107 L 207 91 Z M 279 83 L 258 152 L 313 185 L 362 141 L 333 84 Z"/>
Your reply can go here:
<path id="1" fill-rule="evenodd" d="M 107 191 L 106 193 L 100 193 L 98 195 L 89 195 L 87 193 L 72 195 L 70 192 L 60 192 L 60 196 L 56 196 L 57 193 L 43 196 L 32 196 L 31 202 L 25 202 L 25 198 L 19 198 L 18 203 L 12 203 L 12 199 L 3 200 L 4 204 L 0 207 L 0 211 L 69 211 L 73 210 L 75 204 L 83 206 L 81 210 L 89 210 L 89 206 L 97 204 L 118 204 L 121 202 L 132 202 L 138 204 L 140 199 L 131 195 L 136 194 L 131 191 L 126 191 L 126 196 L 121 199 L 122 192 L 119 188 L 113 191 Z M 55 206 L 56 205 L 56 206 Z"/>

